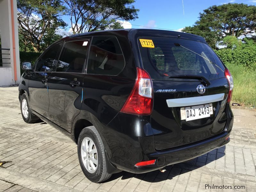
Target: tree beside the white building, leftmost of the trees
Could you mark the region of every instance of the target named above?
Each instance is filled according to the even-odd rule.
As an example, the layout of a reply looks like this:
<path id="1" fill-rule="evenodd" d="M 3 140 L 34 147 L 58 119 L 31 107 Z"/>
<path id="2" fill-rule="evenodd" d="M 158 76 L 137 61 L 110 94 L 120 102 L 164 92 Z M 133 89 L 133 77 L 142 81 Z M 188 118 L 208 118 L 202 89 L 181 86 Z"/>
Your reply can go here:
<path id="1" fill-rule="evenodd" d="M 30 42 L 35 52 L 49 45 L 49 36 L 67 24 L 60 18 L 66 7 L 61 0 L 17 0 L 19 33 Z M 52 41 L 53 43 L 53 41 Z"/>

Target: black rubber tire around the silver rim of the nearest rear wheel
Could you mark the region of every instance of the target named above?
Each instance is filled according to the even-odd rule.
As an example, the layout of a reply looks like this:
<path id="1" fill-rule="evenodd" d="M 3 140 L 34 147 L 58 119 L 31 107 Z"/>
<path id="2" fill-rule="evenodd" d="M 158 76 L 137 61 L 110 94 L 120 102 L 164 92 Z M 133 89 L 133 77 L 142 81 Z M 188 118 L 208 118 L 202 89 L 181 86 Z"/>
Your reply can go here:
<path id="1" fill-rule="evenodd" d="M 98 154 L 98 167 L 94 173 L 90 173 L 86 170 L 82 155 L 81 155 L 81 146 L 82 141 L 85 137 L 89 137 L 95 144 Z M 106 157 L 104 153 L 104 145 L 100 138 L 99 132 L 96 130 L 94 126 L 85 127 L 79 134 L 78 142 L 77 142 L 77 153 L 80 166 L 84 175 L 94 183 L 100 183 L 102 181 L 108 180 L 112 174 L 108 174 L 107 172 L 107 165 L 106 165 Z"/>

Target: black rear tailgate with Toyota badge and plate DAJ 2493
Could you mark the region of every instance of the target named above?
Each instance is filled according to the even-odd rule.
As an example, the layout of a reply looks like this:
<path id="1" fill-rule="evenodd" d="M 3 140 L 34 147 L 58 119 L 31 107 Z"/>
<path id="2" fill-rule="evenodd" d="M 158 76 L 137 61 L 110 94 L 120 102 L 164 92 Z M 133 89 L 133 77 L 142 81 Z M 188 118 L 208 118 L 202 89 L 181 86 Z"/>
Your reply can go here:
<path id="1" fill-rule="evenodd" d="M 140 38 L 139 38 L 140 39 Z M 156 149 L 177 147 L 212 137 L 228 120 L 228 81 L 224 66 L 205 43 L 163 37 L 138 40 L 143 68 L 152 78 L 151 126 Z"/>

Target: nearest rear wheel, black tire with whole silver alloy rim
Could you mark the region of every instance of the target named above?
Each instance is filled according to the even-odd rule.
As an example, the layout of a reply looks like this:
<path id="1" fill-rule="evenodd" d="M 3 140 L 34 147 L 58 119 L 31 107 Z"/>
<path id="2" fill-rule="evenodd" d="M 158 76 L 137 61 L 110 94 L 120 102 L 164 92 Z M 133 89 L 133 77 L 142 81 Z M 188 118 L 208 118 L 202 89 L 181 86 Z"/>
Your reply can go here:
<path id="1" fill-rule="evenodd" d="M 78 137 L 77 153 L 84 175 L 92 182 L 108 180 L 104 145 L 94 126 L 85 127 Z"/>

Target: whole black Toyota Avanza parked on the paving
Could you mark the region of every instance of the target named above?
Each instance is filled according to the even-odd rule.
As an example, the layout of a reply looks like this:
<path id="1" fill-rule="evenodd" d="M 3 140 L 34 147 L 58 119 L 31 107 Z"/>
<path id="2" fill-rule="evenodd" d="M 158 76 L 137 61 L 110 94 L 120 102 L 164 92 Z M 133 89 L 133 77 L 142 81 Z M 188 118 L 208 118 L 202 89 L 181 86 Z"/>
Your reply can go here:
<path id="1" fill-rule="evenodd" d="M 233 78 L 204 38 L 120 29 L 48 47 L 19 86 L 22 117 L 71 137 L 85 176 L 144 173 L 229 142 Z"/>

